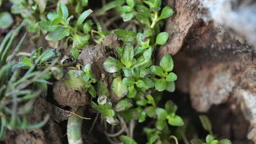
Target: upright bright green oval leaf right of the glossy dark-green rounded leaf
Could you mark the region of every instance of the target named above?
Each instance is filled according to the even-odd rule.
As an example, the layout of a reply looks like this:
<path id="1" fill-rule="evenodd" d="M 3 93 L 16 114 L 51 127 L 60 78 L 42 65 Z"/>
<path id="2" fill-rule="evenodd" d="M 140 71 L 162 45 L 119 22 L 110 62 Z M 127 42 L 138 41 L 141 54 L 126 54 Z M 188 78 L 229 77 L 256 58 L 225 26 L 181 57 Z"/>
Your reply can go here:
<path id="1" fill-rule="evenodd" d="M 122 50 L 121 62 L 130 68 L 133 64 L 134 49 L 131 43 L 124 45 Z"/>

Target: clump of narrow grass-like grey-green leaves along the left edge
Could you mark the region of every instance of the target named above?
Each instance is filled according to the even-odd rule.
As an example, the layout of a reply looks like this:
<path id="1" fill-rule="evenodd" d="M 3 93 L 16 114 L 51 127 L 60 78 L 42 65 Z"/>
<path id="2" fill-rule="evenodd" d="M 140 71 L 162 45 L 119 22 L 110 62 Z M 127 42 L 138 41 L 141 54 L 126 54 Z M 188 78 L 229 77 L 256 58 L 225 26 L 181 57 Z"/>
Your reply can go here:
<path id="1" fill-rule="evenodd" d="M 35 98 L 43 92 L 41 89 L 35 89 L 33 85 L 37 82 L 49 83 L 44 80 L 44 77 L 51 65 L 42 72 L 35 70 L 37 63 L 45 58 L 48 52 L 39 54 L 37 61 L 30 63 L 29 69 L 22 74 L 21 69 L 14 65 L 13 60 L 25 39 L 25 34 L 7 60 L 7 54 L 13 41 L 25 25 L 22 23 L 15 30 L 10 31 L 0 44 L 0 138 L 3 136 L 5 128 L 9 130 L 39 128 L 44 126 L 49 119 L 49 115 L 47 115 L 38 124 L 28 124 L 27 120 L 27 114 L 32 109 Z"/>

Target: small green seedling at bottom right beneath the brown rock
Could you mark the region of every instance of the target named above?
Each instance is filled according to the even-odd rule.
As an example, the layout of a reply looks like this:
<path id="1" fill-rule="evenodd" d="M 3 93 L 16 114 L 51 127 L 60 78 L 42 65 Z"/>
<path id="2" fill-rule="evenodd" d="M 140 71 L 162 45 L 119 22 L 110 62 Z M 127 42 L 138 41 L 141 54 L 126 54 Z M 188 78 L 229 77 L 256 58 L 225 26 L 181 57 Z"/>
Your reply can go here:
<path id="1" fill-rule="evenodd" d="M 203 142 L 203 140 L 201 139 L 196 138 L 190 141 L 191 144 L 232 144 L 231 141 L 228 139 L 220 139 L 220 140 L 216 139 L 216 137 L 212 133 L 212 129 L 211 129 L 212 126 L 207 116 L 200 115 L 199 118 L 201 120 L 203 128 L 206 131 L 208 131 L 210 134 L 206 136 L 205 142 Z"/>

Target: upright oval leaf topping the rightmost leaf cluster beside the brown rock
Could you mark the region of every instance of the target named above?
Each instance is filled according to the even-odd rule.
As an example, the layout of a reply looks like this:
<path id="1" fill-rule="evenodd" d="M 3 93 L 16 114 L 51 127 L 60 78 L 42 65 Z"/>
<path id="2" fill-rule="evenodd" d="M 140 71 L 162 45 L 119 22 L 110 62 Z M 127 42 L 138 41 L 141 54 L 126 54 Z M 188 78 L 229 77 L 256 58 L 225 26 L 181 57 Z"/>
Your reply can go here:
<path id="1" fill-rule="evenodd" d="M 165 72 L 171 72 L 174 69 L 174 61 L 169 54 L 165 54 L 161 61 L 160 61 L 160 67 L 165 71 Z"/>

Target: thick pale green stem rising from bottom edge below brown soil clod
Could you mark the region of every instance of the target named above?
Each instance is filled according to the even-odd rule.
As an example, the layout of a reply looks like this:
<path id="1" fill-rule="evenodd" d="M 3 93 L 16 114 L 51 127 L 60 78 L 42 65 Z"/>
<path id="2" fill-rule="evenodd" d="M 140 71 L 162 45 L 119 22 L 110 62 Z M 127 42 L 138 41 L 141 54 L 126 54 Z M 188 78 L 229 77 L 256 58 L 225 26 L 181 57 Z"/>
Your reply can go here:
<path id="1" fill-rule="evenodd" d="M 78 108 L 76 114 L 83 116 L 83 108 Z M 71 115 L 67 124 L 68 144 L 83 144 L 82 142 L 82 118 Z"/>

